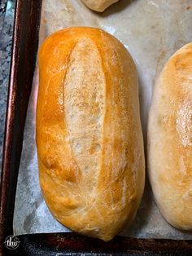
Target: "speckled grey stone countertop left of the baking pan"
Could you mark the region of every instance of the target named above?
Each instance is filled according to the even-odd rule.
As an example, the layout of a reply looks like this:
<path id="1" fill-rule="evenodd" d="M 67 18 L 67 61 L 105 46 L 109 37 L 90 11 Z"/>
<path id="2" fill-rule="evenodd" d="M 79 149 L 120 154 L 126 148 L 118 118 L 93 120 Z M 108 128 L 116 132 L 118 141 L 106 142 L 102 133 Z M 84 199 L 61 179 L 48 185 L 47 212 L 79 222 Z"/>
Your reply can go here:
<path id="1" fill-rule="evenodd" d="M 7 108 L 15 0 L 0 1 L 0 164 Z M 1 169 L 0 169 L 1 170 Z"/>

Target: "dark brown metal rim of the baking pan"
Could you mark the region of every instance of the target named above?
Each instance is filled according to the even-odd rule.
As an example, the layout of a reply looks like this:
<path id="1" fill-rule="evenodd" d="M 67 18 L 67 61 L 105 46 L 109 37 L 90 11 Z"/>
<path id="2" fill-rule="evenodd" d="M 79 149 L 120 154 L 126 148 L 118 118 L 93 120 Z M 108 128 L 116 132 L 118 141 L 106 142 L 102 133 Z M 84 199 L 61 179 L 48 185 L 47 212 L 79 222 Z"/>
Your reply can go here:
<path id="1" fill-rule="evenodd" d="M 74 232 L 17 236 L 18 247 L 7 249 L 6 238 L 13 234 L 15 192 L 37 60 L 40 17 L 41 0 L 16 1 L 0 188 L 0 255 L 191 255 L 191 240 L 116 236 L 103 242 Z"/>

